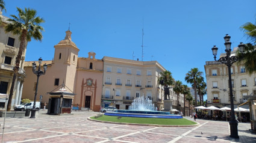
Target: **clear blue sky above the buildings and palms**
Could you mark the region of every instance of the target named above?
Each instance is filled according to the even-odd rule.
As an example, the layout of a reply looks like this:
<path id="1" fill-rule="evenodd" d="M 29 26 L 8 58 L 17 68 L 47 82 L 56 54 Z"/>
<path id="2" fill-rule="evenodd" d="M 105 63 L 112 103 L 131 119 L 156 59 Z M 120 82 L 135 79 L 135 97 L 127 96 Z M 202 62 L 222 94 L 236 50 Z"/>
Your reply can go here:
<path id="1" fill-rule="evenodd" d="M 224 52 L 225 34 L 231 35 L 232 47 L 246 37 L 239 29 L 246 22 L 255 23 L 256 1 L 34 1 L 5 0 L 7 12 L 17 15 L 16 7 L 30 7 L 45 19 L 43 41 L 31 41 L 26 61 L 39 57 L 51 60 L 54 45 L 72 31 L 72 41 L 80 57 L 96 53 L 96 58 L 112 56 L 156 60 L 171 71 L 175 80 L 186 84 L 184 77 L 194 67 L 204 72 L 205 61 L 213 61 L 211 47 Z M 218 56 L 219 56 L 218 54 Z"/>

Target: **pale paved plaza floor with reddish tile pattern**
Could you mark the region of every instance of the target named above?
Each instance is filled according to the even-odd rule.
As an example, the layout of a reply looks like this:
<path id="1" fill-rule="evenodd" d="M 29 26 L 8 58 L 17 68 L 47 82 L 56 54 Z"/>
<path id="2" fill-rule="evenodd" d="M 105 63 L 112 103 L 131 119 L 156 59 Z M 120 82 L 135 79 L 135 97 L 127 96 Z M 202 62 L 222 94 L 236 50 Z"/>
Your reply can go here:
<path id="1" fill-rule="evenodd" d="M 239 123 L 240 139 L 236 140 L 229 138 L 225 121 L 196 120 L 199 126 L 192 127 L 132 126 L 87 120 L 98 112 L 72 113 L 48 115 L 40 111 L 35 119 L 6 118 L 4 142 L 256 142 L 256 135 L 248 131 L 249 123 Z M 0 121 L 2 139 L 4 118 Z"/>

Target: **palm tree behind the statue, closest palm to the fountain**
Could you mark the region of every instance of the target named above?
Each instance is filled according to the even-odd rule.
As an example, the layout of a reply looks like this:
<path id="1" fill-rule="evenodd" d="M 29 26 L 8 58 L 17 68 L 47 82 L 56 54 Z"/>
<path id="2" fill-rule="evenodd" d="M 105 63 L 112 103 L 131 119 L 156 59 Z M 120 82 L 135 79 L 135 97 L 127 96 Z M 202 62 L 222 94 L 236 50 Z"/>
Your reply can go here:
<path id="1" fill-rule="evenodd" d="M 164 100 L 167 99 L 167 95 L 170 99 L 170 94 L 169 94 L 169 88 L 168 86 L 171 86 L 174 84 L 174 79 L 172 78 L 172 73 L 168 70 L 163 71 L 160 73 L 160 77 L 158 78 L 158 83 L 160 85 L 164 86 Z"/>

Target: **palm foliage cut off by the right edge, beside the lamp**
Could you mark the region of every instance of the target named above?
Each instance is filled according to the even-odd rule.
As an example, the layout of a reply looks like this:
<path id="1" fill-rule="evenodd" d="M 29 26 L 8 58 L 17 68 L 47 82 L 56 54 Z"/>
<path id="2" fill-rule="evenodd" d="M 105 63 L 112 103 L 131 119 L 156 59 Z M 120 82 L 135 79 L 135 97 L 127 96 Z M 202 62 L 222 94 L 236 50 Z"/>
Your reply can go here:
<path id="1" fill-rule="evenodd" d="M 245 44 L 245 53 L 242 54 L 237 50 L 237 56 L 239 57 L 237 64 L 243 64 L 249 75 L 252 75 L 256 71 L 256 25 L 247 22 L 240 29 L 245 32 L 249 43 Z"/>

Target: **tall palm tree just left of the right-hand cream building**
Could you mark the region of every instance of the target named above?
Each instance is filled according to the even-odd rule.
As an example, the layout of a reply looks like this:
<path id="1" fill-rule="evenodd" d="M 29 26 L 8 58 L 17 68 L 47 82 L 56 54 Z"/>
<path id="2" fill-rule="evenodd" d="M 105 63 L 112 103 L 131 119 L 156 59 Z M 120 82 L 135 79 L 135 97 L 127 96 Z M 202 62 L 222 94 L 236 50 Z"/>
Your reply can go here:
<path id="1" fill-rule="evenodd" d="M 196 85 L 198 83 L 199 78 L 202 76 L 202 71 L 199 71 L 198 68 L 191 68 L 191 70 L 186 74 L 185 81 L 189 84 L 193 84 L 193 89 L 195 90 L 195 106 L 198 105 L 196 95 Z"/>

